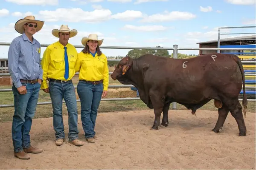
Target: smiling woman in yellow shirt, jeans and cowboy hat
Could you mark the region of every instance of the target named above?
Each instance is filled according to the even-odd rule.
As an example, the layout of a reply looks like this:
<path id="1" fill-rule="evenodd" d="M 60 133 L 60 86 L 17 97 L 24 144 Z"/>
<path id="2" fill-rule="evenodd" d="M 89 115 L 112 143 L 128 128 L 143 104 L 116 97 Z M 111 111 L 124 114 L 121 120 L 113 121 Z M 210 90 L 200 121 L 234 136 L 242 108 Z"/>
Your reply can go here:
<path id="1" fill-rule="evenodd" d="M 94 143 L 99 103 L 108 91 L 108 61 L 99 49 L 103 39 L 98 40 L 97 34 L 83 37 L 81 42 L 85 47 L 78 54 L 75 65 L 75 71 L 79 71 L 77 94 L 81 101 L 81 122 L 85 138 L 89 143 Z"/>

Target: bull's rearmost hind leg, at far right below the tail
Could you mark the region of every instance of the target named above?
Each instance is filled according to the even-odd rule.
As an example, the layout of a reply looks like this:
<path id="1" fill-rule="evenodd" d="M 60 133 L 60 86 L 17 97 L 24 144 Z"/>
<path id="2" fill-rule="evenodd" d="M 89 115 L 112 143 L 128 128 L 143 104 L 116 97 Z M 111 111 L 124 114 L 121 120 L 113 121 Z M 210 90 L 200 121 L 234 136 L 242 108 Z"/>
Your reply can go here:
<path id="1" fill-rule="evenodd" d="M 244 117 L 242 113 L 242 106 L 238 99 L 233 101 L 232 105 L 228 108 L 231 115 L 236 119 L 236 123 L 239 128 L 239 136 L 246 136 L 247 130 L 244 123 Z"/>

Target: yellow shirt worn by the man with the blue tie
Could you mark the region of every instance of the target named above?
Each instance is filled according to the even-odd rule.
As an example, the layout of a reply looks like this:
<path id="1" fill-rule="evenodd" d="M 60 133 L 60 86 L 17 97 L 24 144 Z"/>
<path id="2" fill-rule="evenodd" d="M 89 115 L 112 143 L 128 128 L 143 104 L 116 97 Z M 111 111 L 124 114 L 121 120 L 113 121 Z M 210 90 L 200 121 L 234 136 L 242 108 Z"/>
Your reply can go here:
<path id="1" fill-rule="evenodd" d="M 67 80 L 70 80 L 75 75 L 75 64 L 77 59 L 77 51 L 76 48 L 67 43 L 67 56 L 68 56 L 68 64 L 69 64 L 69 77 Z M 58 80 L 66 80 L 64 78 L 65 74 L 65 56 L 64 56 L 65 48 L 59 41 L 54 42 L 49 45 L 44 51 L 44 55 L 41 61 L 42 69 L 43 69 L 43 82 L 41 85 L 41 89 L 48 88 L 47 78 L 50 79 L 58 79 Z"/>

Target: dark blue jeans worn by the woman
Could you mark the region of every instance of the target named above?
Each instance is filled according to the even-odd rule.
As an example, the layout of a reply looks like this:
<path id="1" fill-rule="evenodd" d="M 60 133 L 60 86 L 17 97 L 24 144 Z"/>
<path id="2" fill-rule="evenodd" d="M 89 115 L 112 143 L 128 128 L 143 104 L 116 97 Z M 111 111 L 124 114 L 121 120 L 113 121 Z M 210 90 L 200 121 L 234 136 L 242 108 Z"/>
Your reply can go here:
<path id="1" fill-rule="evenodd" d="M 102 92 L 102 83 L 93 85 L 80 80 L 77 84 L 77 94 L 81 101 L 81 122 L 86 139 L 95 135 L 94 127 Z"/>

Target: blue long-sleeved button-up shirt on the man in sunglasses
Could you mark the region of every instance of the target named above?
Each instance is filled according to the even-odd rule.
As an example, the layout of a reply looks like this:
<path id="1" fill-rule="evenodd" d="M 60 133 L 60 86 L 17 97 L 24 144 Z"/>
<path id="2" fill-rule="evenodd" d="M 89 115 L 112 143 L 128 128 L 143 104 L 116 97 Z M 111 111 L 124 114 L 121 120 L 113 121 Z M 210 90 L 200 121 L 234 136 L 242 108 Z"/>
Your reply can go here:
<path id="1" fill-rule="evenodd" d="M 29 40 L 25 33 L 12 40 L 8 51 L 8 69 L 16 88 L 20 79 L 43 79 L 41 68 L 41 44 L 33 38 Z"/>

